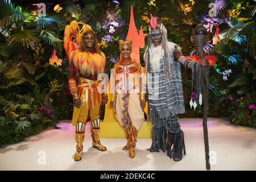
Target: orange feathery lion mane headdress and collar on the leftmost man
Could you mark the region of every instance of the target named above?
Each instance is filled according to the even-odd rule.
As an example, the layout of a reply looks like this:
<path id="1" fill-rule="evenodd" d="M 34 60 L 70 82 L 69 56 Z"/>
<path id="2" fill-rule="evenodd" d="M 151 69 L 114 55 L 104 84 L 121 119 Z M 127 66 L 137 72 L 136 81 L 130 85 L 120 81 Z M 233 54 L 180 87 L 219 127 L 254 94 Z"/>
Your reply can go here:
<path id="1" fill-rule="evenodd" d="M 85 49 L 83 37 L 86 34 L 94 35 L 95 53 L 89 53 Z M 100 50 L 96 33 L 88 24 L 76 22 L 74 20 L 65 27 L 64 49 L 69 58 L 69 63 L 70 61 L 73 61 L 73 64 L 82 75 L 88 73 L 98 75 L 104 71 L 106 57 Z"/>

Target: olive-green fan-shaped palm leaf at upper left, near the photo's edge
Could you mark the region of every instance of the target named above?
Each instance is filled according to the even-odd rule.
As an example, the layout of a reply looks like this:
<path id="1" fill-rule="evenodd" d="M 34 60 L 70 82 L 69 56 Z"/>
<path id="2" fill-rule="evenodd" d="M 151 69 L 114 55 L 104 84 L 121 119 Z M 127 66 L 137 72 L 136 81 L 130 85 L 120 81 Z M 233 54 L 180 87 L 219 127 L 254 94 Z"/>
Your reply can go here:
<path id="1" fill-rule="evenodd" d="M 39 43 L 40 39 L 38 39 L 38 31 L 36 30 L 21 30 L 11 35 L 9 41 L 8 46 L 13 43 L 20 43 L 22 46 L 32 47 L 34 44 Z"/>

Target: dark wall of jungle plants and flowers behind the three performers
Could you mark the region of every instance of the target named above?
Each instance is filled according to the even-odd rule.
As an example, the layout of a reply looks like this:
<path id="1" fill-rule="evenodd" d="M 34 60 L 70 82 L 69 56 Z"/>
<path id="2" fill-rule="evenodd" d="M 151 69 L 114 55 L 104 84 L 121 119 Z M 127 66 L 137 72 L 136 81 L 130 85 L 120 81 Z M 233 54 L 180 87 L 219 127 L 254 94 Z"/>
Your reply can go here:
<path id="1" fill-rule="evenodd" d="M 38 3 L 46 15 L 38 15 Z M 211 17 L 208 5 L 215 3 Z M 105 72 L 119 60 L 118 40 L 129 28 L 130 6 L 147 47 L 150 13 L 162 19 L 168 39 L 184 55 L 196 55 L 191 36 L 196 24 L 208 30 L 205 55 L 215 55 L 210 68 L 209 117 L 229 117 L 235 125 L 256 128 L 255 1 L 0 1 L 0 146 L 16 143 L 60 119 L 71 119 L 73 103 L 68 88 L 68 57 L 63 50 L 64 28 L 72 20 L 96 31 L 107 58 Z M 186 113 L 201 117 L 203 107 L 192 110 L 191 71 L 182 67 Z M 193 98 L 195 99 L 195 98 Z M 104 107 L 101 118 L 104 117 Z"/>

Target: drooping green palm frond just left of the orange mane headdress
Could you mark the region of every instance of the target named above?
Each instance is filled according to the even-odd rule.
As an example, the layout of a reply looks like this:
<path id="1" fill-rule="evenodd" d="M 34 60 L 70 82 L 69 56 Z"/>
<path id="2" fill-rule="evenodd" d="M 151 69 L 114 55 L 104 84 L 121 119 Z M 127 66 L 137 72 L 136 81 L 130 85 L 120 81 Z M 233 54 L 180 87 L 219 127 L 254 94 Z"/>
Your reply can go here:
<path id="1" fill-rule="evenodd" d="M 40 34 L 43 42 L 49 44 L 50 46 L 54 46 L 59 50 L 63 49 L 63 41 L 60 40 L 56 35 L 55 32 L 49 30 L 43 30 Z"/>

